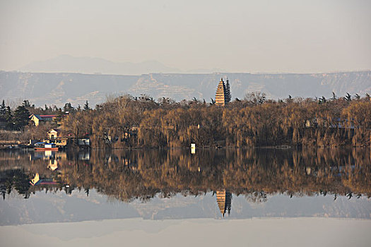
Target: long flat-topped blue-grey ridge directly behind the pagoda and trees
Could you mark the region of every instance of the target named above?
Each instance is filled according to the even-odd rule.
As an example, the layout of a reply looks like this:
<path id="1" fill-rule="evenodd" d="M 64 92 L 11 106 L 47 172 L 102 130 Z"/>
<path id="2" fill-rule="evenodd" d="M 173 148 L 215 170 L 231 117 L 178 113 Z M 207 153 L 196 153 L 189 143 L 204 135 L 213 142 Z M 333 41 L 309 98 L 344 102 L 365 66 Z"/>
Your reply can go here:
<path id="1" fill-rule="evenodd" d="M 108 64 L 107 64 L 108 66 Z M 129 93 L 150 95 L 155 100 L 171 97 L 177 101 L 215 97 L 220 78 L 230 80 L 232 98 L 247 92 L 266 92 L 269 98 L 331 97 L 332 92 L 371 94 L 371 71 L 313 74 L 251 73 L 148 73 L 141 76 L 115 76 L 82 73 L 22 73 L 0 71 L 0 100 L 30 100 L 37 106 L 86 100 L 91 106 L 104 102 L 107 95 Z"/>

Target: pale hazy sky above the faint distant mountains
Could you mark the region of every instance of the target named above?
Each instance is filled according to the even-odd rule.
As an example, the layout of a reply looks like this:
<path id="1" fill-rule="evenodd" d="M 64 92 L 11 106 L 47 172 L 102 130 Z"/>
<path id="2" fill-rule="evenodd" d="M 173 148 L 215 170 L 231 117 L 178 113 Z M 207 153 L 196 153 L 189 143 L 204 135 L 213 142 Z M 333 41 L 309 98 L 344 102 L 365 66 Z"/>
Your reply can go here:
<path id="1" fill-rule="evenodd" d="M 61 54 L 184 71 L 371 68 L 371 1 L 0 0 L 0 70 Z"/>

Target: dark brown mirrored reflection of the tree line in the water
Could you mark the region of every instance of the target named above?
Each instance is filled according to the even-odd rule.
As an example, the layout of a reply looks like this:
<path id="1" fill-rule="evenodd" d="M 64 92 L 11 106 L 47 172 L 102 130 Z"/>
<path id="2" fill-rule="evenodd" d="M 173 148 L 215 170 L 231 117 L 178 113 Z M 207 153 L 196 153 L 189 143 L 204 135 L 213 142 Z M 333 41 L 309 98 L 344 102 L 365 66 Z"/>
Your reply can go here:
<path id="1" fill-rule="evenodd" d="M 189 150 L 97 150 L 88 160 L 78 153 L 55 159 L 58 169 L 52 171 L 45 159 L 2 152 L 1 188 L 9 190 L 6 172 L 18 166 L 26 179 L 37 172 L 60 181 L 59 186 L 47 188 L 52 191 L 71 193 L 77 188 L 88 194 L 95 188 L 124 201 L 148 200 L 158 193 L 171 197 L 223 190 L 256 202 L 273 193 L 371 195 L 370 149 L 227 149 L 198 150 L 196 155 L 189 155 Z M 28 195 L 41 188 L 20 191 Z"/>

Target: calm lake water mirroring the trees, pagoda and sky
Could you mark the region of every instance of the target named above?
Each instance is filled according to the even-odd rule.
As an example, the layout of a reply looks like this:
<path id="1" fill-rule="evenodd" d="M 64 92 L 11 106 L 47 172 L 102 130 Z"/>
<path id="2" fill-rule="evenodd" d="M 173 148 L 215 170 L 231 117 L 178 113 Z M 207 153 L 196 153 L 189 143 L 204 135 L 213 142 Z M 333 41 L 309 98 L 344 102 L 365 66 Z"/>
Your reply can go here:
<path id="1" fill-rule="evenodd" d="M 196 154 L 184 149 L 18 150 L 0 152 L 0 179 L 0 234 L 15 246 L 26 242 L 12 242 L 10 236 L 23 231 L 28 239 L 44 243 L 57 238 L 61 246 L 66 241 L 86 244 L 77 241 L 81 238 L 107 243 L 117 232 L 121 237 L 142 236 L 134 242 L 146 246 L 148 234 L 160 238 L 167 231 L 175 232 L 168 233 L 172 237 L 201 231 L 204 241 L 208 234 L 211 238 L 218 231 L 230 231 L 235 242 L 227 242 L 235 244 L 246 231 L 257 231 L 250 237 L 263 246 L 311 246 L 318 244 L 321 234 L 320 246 L 371 243 L 370 148 L 221 149 Z M 257 237 L 259 227 L 272 239 Z M 278 229 L 290 231 L 291 242 L 285 234 L 276 234 Z M 333 237 L 331 231 L 336 233 Z M 318 237 L 303 242 L 307 234 Z M 182 244 L 192 241 L 196 239 Z M 223 239 L 214 241 L 204 244 L 224 244 Z"/>

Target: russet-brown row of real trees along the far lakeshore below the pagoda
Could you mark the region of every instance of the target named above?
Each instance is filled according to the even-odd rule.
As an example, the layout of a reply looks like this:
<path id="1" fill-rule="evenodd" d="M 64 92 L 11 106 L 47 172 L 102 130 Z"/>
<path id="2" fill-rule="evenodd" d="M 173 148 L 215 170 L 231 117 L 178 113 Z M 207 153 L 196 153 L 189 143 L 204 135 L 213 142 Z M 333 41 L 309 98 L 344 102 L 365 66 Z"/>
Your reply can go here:
<path id="1" fill-rule="evenodd" d="M 273 145 L 369 146 L 370 95 L 267 100 L 252 92 L 225 107 L 213 100 L 158 101 L 147 95 L 108 97 L 94 109 L 88 102 L 74 108 L 45 109 L 25 100 L 13 111 L 3 104 L 0 117 L 22 137 L 45 138 L 48 128 L 60 128 L 73 138 L 90 137 L 92 147 L 246 147 Z M 3 109 L 4 108 L 4 109 Z M 64 114 L 69 112 L 69 114 Z M 32 126 L 30 114 L 58 114 L 57 122 Z"/>

